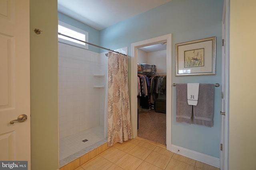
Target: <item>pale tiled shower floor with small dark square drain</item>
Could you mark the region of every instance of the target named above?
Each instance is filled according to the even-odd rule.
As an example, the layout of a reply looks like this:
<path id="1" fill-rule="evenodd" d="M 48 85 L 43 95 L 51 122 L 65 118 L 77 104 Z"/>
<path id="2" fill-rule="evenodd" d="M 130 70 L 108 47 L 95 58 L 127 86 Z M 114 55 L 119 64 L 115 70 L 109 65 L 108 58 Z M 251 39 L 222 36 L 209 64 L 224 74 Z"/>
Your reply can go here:
<path id="1" fill-rule="evenodd" d="M 84 139 L 87 139 L 88 141 L 83 142 Z M 104 138 L 103 126 L 93 127 L 91 129 L 60 139 L 60 167 L 106 142 L 107 138 Z"/>

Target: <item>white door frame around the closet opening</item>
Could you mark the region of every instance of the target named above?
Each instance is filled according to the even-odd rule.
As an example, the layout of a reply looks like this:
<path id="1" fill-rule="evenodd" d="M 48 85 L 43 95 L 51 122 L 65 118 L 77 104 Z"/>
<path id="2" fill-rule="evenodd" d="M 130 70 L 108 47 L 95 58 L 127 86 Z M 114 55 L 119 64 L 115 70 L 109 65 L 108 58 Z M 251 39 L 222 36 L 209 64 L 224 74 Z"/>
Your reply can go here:
<path id="1" fill-rule="evenodd" d="M 132 138 L 137 137 L 138 129 L 138 100 L 137 100 L 137 63 L 138 48 L 167 42 L 166 44 L 166 149 L 171 150 L 172 145 L 172 34 L 162 35 L 159 37 L 139 41 L 131 44 L 131 124 Z"/>

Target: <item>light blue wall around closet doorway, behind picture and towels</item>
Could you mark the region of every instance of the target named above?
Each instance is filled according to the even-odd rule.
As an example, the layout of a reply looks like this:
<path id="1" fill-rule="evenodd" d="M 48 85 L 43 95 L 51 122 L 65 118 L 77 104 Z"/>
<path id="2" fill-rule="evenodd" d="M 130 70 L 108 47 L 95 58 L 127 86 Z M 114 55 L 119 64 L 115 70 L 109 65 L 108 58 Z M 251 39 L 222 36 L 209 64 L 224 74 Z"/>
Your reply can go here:
<path id="1" fill-rule="evenodd" d="M 221 20 L 223 0 L 172 0 L 100 31 L 100 45 L 118 49 L 172 33 L 172 82 L 221 83 Z M 114 8 L 112 10 L 115 10 Z M 216 75 L 175 76 L 175 44 L 216 36 Z M 130 61 L 129 61 L 130 68 Z M 129 71 L 130 73 L 130 71 Z M 214 126 L 176 123 L 176 92 L 172 87 L 172 144 L 219 158 L 221 88 L 215 88 Z"/>

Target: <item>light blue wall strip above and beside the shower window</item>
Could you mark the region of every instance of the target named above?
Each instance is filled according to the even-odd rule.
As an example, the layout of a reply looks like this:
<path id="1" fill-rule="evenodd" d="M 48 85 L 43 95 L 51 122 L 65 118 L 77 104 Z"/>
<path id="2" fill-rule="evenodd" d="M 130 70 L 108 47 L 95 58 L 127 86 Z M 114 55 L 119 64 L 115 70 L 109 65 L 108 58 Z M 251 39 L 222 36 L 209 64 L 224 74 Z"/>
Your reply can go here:
<path id="1" fill-rule="evenodd" d="M 100 45 L 100 31 L 58 12 L 58 20 L 88 32 L 88 42 Z M 89 45 L 89 51 L 100 53 L 100 48 Z"/>

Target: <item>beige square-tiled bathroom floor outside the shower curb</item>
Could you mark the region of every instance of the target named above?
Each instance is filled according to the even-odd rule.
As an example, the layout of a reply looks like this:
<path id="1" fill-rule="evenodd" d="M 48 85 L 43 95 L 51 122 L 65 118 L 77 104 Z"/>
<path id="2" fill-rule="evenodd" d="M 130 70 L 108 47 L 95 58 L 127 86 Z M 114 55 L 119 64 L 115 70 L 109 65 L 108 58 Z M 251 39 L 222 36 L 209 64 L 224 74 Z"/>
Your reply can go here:
<path id="1" fill-rule="evenodd" d="M 75 170 L 220 170 L 163 146 L 131 139 L 117 143 Z"/>

